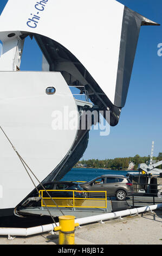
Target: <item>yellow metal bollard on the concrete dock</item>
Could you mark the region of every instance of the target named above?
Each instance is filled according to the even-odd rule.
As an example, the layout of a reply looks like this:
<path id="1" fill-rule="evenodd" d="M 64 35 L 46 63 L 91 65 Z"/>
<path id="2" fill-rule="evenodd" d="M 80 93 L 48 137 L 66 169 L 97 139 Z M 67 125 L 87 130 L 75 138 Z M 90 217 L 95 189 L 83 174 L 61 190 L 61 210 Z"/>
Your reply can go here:
<path id="1" fill-rule="evenodd" d="M 59 245 L 74 245 L 75 227 L 79 226 L 79 223 L 75 223 L 75 216 L 60 216 L 59 227 L 55 227 L 54 230 L 59 230 Z"/>

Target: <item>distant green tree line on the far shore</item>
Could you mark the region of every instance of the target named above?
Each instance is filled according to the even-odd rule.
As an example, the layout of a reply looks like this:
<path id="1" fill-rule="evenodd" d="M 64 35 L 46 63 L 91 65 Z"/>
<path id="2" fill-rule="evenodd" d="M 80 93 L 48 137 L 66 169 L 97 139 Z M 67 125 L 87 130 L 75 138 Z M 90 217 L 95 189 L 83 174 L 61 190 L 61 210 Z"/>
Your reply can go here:
<path id="1" fill-rule="evenodd" d="M 153 157 L 153 160 L 161 161 L 162 160 L 162 153 L 159 153 L 157 157 Z M 78 163 L 86 164 L 87 167 L 91 168 L 107 168 L 107 169 L 127 169 L 129 166 L 129 162 L 133 162 L 135 164 L 134 170 L 138 169 L 139 163 L 146 163 L 150 161 L 150 155 L 148 156 L 139 156 L 135 155 L 134 157 L 116 157 L 115 159 L 105 159 L 105 160 L 98 160 L 98 159 L 89 159 L 89 160 L 81 160 Z M 162 169 L 161 166 L 157 167 Z"/>

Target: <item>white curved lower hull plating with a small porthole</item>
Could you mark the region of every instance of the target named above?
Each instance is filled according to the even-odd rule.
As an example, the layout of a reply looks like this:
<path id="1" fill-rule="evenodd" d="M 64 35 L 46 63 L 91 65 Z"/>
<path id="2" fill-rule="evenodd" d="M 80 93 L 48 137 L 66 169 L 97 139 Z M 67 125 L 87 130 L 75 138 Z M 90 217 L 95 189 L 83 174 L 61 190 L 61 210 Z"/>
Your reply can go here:
<path id="1" fill-rule="evenodd" d="M 1 126 L 42 181 L 64 159 L 75 142 L 77 129 L 52 128 L 55 109 L 57 113 L 63 113 L 63 107 L 68 106 L 69 112 L 77 113 L 74 97 L 60 72 L 4 71 L 1 79 Z M 55 86 L 54 95 L 46 94 L 49 85 Z M 0 208 L 15 208 L 34 190 L 34 186 L 2 131 L 0 152 Z M 36 180 L 35 184 L 38 185 Z"/>

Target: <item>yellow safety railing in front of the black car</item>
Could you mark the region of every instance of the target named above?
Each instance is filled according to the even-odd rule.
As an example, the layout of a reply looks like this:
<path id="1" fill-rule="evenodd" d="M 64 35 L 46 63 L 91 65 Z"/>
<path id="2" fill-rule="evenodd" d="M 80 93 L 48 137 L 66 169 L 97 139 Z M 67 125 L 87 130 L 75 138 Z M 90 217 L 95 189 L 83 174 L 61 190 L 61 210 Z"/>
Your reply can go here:
<path id="1" fill-rule="evenodd" d="M 51 197 L 54 199 L 51 200 L 50 197 L 43 197 L 43 192 L 73 192 L 73 197 Z M 44 207 L 43 201 L 46 203 L 48 207 L 68 207 L 68 208 L 107 208 L 107 192 L 106 191 L 79 191 L 79 190 L 40 190 L 40 194 L 43 200 L 41 200 L 41 206 Z M 75 197 L 74 193 L 86 192 L 90 193 L 103 193 L 105 194 L 104 198 L 84 198 L 84 197 Z"/>

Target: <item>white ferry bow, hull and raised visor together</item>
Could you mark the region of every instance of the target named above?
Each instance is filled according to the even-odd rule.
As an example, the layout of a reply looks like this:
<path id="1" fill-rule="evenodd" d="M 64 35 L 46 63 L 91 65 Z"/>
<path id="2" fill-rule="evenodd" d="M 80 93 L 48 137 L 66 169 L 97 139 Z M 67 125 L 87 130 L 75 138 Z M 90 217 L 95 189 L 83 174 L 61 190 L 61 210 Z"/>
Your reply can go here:
<path id="1" fill-rule="evenodd" d="M 118 124 L 140 27 L 152 25 L 115 0 L 8 1 L 0 17 L 0 126 L 38 180 L 60 180 L 79 161 L 99 122 L 83 125 L 86 111 Z M 42 71 L 21 70 L 27 38 L 40 47 Z M 34 186 L 2 130 L 0 215 L 7 215 Z"/>

